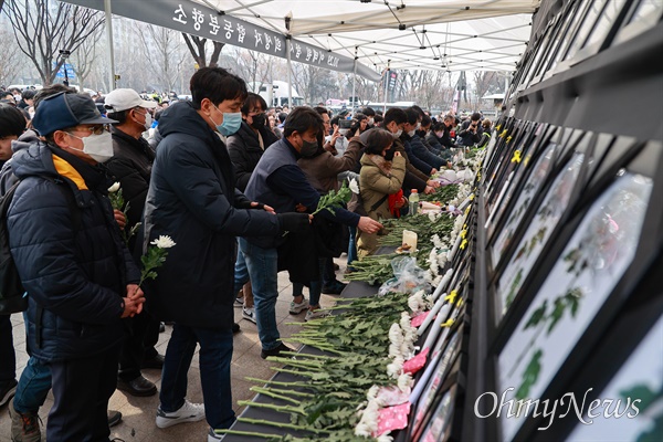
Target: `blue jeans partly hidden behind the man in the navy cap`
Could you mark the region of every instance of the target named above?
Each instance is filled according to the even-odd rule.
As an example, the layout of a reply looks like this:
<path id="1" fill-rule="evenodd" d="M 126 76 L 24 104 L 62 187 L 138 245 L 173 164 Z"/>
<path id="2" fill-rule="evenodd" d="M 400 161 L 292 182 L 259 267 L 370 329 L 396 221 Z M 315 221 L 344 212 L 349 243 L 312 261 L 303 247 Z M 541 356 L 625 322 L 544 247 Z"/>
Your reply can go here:
<path id="1" fill-rule="evenodd" d="M 14 396 L 14 408 L 19 413 L 36 413 L 51 391 L 51 367 L 30 357 L 21 373 Z"/>

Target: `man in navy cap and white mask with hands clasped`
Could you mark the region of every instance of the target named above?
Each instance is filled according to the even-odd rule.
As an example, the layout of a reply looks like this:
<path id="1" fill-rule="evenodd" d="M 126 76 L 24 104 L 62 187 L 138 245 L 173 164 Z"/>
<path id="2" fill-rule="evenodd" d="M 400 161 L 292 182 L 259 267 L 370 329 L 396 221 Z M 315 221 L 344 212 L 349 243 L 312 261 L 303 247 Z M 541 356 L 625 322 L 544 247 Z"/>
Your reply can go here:
<path id="1" fill-rule="evenodd" d="M 105 125 L 115 122 L 86 95 L 56 93 L 40 102 L 32 123 L 45 143 L 14 145 L 21 181 L 8 230 L 29 298 L 30 364 L 49 368 L 43 398 L 52 378 L 46 438 L 108 440 L 122 318 L 140 314 L 145 302 L 107 198 L 113 180 L 97 166 L 113 156 Z"/>

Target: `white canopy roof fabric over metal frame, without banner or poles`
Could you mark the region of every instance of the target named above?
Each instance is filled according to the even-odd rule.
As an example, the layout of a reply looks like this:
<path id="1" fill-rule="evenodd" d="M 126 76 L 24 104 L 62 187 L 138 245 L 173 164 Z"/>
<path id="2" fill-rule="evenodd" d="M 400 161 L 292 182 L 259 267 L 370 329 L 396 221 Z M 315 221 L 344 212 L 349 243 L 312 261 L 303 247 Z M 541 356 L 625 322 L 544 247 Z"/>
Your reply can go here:
<path id="1" fill-rule="evenodd" d="M 193 0 L 381 72 L 514 71 L 540 0 Z"/>

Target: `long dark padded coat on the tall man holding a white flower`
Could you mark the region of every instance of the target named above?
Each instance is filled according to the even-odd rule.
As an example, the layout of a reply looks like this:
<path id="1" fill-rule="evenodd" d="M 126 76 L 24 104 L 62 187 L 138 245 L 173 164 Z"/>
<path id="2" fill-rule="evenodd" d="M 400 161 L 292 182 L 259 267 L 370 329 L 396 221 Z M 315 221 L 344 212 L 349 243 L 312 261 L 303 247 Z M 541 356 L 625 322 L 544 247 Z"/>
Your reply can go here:
<path id="1" fill-rule="evenodd" d="M 277 235 L 278 221 L 234 186 L 232 164 L 215 131 L 189 102 L 159 119 L 164 136 L 145 203 L 146 241 L 170 235 L 176 245 L 158 270 L 150 308 L 192 327 L 233 324 L 235 236 Z"/>

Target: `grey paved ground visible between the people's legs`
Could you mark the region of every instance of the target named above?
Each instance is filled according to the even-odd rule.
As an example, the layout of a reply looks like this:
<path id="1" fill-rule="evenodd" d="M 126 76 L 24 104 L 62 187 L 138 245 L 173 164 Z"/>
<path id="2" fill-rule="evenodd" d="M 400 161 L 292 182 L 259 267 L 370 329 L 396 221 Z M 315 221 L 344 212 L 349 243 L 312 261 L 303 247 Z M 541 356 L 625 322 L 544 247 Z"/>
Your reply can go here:
<path id="1" fill-rule="evenodd" d="M 346 255 L 344 254 L 336 262 L 340 265 L 337 272 L 341 280 L 345 270 Z M 304 313 L 293 316 L 288 314 L 290 303 L 292 301 L 292 284 L 287 280 L 287 274 L 278 274 L 278 302 L 276 303 L 276 320 L 281 336 L 287 338 L 292 333 L 299 329 L 296 325 L 287 323 L 304 322 Z M 304 290 L 307 296 L 307 290 Z M 322 305 L 330 306 L 334 304 L 335 296 L 323 295 Z M 232 357 L 232 396 L 236 404 L 239 400 L 249 400 L 254 397 L 250 391 L 253 383 L 245 380 L 246 377 L 259 379 L 270 379 L 274 371 L 271 369 L 274 362 L 267 362 L 260 357 L 260 340 L 257 338 L 257 328 L 255 324 L 242 319 L 242 309 L 235 308 L 235 320 L 242 327 L 241 333 L 234 338 L 234 352 Z M 17 350 L 17 376 L 20 376 L 28 361 L 25 352 L 25 329 L 22 315 L 12 315 L 14 347 Z M 166 326 L 166 332 L 160 335 L 157 349 L 164 354 L 170 337 L 172 327 Z M 159 370 L 144 370 L 144 376 L 155 382 L 160 388 L 161 372 Z M 192 402 L 202 402 L 202 391 L 200 388 L 200 373 L 198 371 L 198 358 L 194 356 L 189 370 L 189 393 L 188 399 Z M 45 425 L 49 410 L 53 404 L 53 397 L 49 398 L 44 407 L 40 410 L 40 417 Z M 203 442 L 207 441 L 207 431 L 209 429 L 206 421 L 194 423 L 183 423 L 166 430 L 158 429 L 155 424 L 155 413 L 158 406 L 158 394 L 150 398 L 135 398 L 122 391 L 116 390 L 110 398 L 109 408 L 119 410 L 123 413 L 123 421 L 114 427 L 110 438 L 120 438 L 126 442 Z M 238 415 L 242 408 L 236 406 Z M 7 406 L 0 409 L 0 442 L 10 441 L 10 418 Z M 45 434 L 42 427 L 42 434 Z M 45 438 L 42 438 L 45 440 Z"/>

